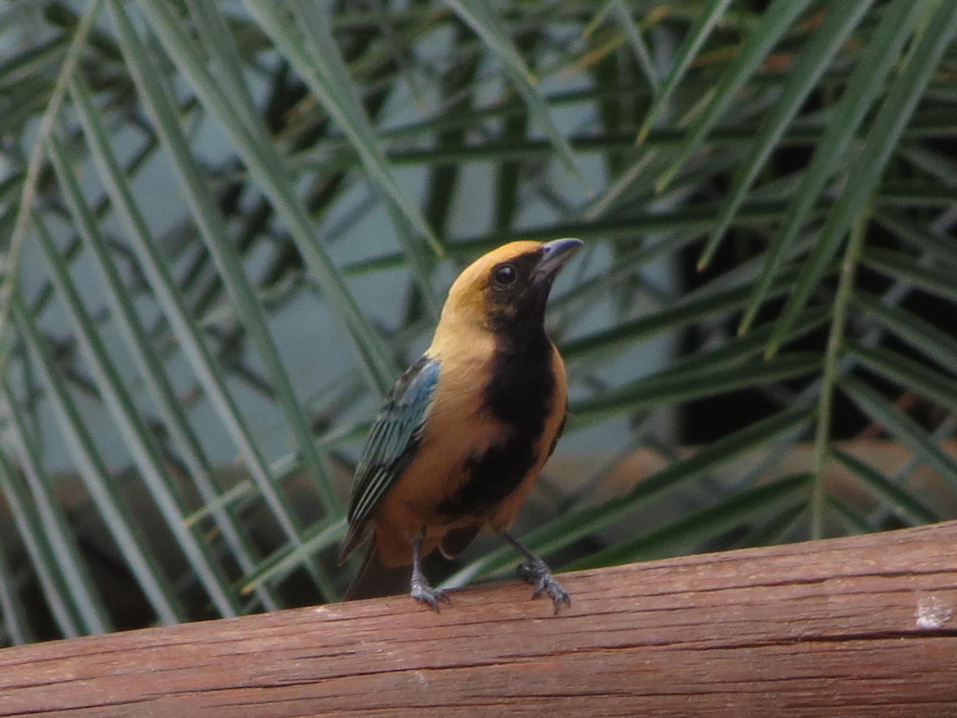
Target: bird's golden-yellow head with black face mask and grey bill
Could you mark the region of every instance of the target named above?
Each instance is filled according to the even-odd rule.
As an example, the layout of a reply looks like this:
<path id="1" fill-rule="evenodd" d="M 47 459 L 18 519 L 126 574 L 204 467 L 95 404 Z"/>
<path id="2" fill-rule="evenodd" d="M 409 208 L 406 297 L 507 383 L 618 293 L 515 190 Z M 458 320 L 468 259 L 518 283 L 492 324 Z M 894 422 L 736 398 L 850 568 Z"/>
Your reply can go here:
<path id="1" fill-rule="evenodd" d="M 548 292 L 579 239 L 509 242 L 466 267 L 449 289 L 442 323 L 493 332 L 541 329 Z"/>

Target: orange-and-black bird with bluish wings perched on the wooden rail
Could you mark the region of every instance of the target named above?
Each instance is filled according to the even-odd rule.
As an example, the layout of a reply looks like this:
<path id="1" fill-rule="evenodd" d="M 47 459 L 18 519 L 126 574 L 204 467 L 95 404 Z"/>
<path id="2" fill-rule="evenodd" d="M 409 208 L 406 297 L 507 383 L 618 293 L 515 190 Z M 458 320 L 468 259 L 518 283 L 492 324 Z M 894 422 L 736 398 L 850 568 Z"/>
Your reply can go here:
<path id="1" fill-rule="evenodd" d="M 345 600 L 408 590 L 437 612 L 451 601 L 423 558 L 436 548 L 453 558 L 491 528 L 524 556 L 533 598 L 547 594 L 556 614 L 571 605 L 510 527 L 565 427 L 565 364 L 545 304 L 581 245 L 509 242 L 453 282 L 432 344 L 389 392 L 356 464 L 340 564 L 367 550 Z"/>

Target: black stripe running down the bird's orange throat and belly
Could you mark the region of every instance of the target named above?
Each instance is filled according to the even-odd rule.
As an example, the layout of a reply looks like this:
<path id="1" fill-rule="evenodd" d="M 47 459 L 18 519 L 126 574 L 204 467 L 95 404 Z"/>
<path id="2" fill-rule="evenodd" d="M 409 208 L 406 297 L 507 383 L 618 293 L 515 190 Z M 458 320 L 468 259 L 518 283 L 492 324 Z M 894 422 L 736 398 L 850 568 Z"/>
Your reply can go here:
<path id="1" fill-rule="evenodd" d="M 440 506 L 448 516 L 480 516 L 509 496 L 532 468 L 555 394 L 545 332 L 520 341 L 499 337 L 484 409 L 501 422 L 501 439 L 468 463 L 469 478 Z"/>

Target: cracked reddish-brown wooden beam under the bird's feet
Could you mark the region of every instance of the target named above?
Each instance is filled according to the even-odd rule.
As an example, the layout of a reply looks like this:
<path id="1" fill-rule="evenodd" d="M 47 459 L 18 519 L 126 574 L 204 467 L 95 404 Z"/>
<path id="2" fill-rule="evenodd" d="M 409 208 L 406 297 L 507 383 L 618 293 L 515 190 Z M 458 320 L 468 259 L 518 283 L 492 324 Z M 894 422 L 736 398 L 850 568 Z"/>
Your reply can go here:
<path id="1" fill-rule="evenodd" d="M 0 651 L 0 715 L 957 715 L 957 522 Z"/>

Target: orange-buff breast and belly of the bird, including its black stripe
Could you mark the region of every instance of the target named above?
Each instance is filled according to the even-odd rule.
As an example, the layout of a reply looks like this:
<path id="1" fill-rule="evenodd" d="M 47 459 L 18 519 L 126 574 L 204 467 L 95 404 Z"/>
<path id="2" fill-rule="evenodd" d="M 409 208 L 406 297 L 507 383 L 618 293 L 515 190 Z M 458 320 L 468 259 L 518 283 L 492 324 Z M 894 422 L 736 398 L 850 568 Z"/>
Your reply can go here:
<path id="1" fill-rule="evenodd" d="M 440 358 L 434 402 L 390 514 L 436 524 L 482 521 L 534 479 L 565 415 L 565 371 L 545 339 L 534 350 Z"/>

